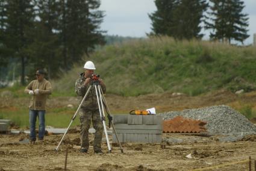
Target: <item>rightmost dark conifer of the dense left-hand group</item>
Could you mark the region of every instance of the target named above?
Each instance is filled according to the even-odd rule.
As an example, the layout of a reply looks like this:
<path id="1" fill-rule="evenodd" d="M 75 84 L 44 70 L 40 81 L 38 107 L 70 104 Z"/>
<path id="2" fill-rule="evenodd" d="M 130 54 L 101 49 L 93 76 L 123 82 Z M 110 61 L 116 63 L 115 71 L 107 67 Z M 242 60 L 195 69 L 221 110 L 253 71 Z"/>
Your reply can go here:
<path id="1" fill-rule="evenodd" d="M 99 0 L 61 0 L 60 42 L 63 52 L 64 67 L 77 62 L 85 53 L 103 44 L 104 31 L 100 30 L 103 21 L 103 11 L 98 10 Z"/>

